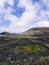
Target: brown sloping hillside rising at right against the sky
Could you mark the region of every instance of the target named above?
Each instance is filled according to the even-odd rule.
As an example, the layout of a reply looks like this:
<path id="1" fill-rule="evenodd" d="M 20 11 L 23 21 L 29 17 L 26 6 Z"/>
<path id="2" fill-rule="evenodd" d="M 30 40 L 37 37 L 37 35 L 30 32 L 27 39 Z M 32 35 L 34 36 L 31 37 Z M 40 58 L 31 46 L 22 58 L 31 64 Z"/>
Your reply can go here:
<path id="1" fill-rule="evenodd" d="M 40 28 L 31 28 L 24 33 L 21 33 L 22 35 L 34 35 L 34 34 L 42 34 L 42 33 L 49 33 L 49 27 L 40 27 Z"/>

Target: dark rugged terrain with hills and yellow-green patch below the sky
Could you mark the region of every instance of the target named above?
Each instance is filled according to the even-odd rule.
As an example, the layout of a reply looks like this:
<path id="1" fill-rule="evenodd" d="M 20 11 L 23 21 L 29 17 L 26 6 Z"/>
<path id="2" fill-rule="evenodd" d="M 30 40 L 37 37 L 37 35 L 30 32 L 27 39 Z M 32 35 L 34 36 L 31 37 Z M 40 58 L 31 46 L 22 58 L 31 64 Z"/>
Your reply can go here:
<path id="1" fill-rule="evenodd" d="M 2 32 L 0 65 L 49 65 L 49 28 L 32 28 L 21 34 Z"/>

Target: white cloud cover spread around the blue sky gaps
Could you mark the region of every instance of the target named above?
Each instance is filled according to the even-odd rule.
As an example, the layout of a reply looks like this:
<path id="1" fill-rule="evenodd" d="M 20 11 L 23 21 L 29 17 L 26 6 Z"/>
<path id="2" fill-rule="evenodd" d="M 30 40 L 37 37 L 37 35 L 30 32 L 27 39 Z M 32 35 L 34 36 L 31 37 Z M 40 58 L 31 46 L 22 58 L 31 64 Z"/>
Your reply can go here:
<path id="1" fill-rule="evenodd" d="M 11 7 L 7 9 L 4 8 L 5 2 L 8 3 Z M 46 7 L 49 7 L 47 4 L 48 0 L 42 0 L 42 4 Z M 31 27 L 48 27 L 49 21 L 49 10 L 42 10 L 41 5 L 38 2 L 35 4 L 32 3 L 31 0 L 19 0 L 17 6 L 25 7 L 25 12 L 23 12 L 22 16 L 18 18 L 15 15 L 12 15 L 11 12 L 14 11 L 13 0 L 0 0 L 0 13 L 5 14 L 3 20 L 10 20 L 11 24 L 9 27 L 0 26 L 0 31 L 8 31 L 8 32 L 23 32 Z M 1 18 L 0 21 L 2 22 Z M 34 22 L 36 21 L 36 23 Z"/>

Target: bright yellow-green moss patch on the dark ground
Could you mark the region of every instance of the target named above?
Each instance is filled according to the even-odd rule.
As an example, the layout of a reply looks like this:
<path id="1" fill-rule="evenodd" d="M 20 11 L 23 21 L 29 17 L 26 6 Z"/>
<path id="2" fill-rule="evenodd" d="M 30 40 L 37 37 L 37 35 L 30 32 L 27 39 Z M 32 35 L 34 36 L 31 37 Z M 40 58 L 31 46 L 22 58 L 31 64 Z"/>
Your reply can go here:
<path id="1" fill-rule="evenodd" d="M 31 53 L 39 53 L 41 51 L 41 48 L 38 46 L 21 46 L 21 47 L 16 47 L 16 53 L 21 53 L 21 52 L 31 52 Z"/>

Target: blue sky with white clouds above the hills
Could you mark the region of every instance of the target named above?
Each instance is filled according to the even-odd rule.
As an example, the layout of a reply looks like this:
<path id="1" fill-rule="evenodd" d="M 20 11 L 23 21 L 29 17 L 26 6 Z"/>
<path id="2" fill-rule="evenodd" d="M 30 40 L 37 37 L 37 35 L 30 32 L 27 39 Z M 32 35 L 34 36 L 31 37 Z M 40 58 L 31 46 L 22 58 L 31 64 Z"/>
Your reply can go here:
<path id="1" fill-rule="evenodd" d="M 49 27 L 49 0 L 0 0 L 0 32 Z"/>

